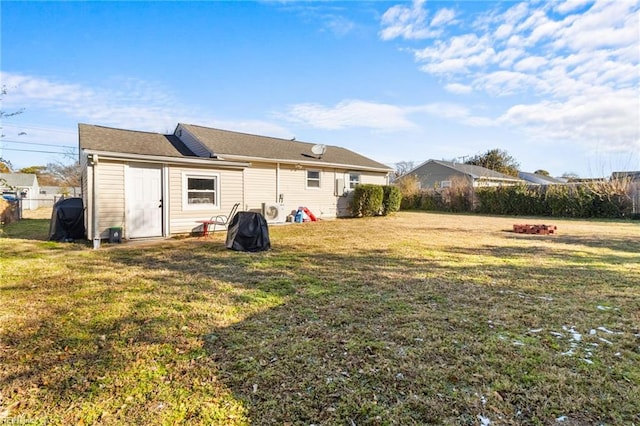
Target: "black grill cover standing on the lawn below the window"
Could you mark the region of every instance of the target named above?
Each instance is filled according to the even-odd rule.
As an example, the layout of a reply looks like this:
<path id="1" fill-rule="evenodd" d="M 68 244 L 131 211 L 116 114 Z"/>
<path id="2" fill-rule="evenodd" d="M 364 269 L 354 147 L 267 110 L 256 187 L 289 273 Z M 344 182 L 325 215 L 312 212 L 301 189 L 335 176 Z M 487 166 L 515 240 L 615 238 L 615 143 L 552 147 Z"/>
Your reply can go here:
<path id="1" fill-rule="evenodd" d="M 264 216 L 254 212 L 236 213 L 227 227 L 226 246 L 238 251 L 269 250 L 269 227 Z"/>

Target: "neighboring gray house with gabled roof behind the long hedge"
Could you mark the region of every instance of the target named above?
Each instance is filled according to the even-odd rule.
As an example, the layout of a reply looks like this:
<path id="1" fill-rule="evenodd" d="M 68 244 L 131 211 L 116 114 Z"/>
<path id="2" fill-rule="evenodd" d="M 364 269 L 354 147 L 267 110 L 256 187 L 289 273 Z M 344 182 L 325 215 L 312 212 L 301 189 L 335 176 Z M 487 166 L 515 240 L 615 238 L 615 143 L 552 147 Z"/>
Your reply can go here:
<path id="1" fill-rule="evenodd" d="M 484 167 L 439 160 L 428 160 L 406 175 L 416 176 L 422 189 L 448 188 L 457 185 L 500 186 L 523 182 L 517 177 Z"/>

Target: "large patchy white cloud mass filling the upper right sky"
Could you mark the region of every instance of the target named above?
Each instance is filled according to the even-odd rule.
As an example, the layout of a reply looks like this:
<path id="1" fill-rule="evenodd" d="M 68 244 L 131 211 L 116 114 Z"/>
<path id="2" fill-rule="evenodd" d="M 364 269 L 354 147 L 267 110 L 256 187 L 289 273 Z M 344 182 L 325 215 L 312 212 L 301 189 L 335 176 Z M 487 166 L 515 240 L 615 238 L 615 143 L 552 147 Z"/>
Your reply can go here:
<path id="1" fill-rule="evenodd" d="M 411 10 L 427 16 L 429 6 Z M 500 97 L 502 126 L 585 147 L 640 149 L 638 0 L 496 3 L 443 31 L 413 51 L 419 68 L 449 92 Z"/>

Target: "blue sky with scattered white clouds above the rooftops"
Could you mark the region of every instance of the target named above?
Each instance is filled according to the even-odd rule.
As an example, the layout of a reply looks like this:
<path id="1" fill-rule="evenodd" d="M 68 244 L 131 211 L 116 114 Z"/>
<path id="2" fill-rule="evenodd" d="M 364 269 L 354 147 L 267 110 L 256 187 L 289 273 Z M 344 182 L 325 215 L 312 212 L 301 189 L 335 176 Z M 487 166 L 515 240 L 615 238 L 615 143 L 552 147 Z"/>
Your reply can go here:
<path id="1" fill-rule="evenodd" d="M 500 149 L 552 176 L 640 170 L 640 0 L 4 0 L 0 19 L 15 169 L 77 158 L 78 123 L 189 123 L 394 168 Z"/>

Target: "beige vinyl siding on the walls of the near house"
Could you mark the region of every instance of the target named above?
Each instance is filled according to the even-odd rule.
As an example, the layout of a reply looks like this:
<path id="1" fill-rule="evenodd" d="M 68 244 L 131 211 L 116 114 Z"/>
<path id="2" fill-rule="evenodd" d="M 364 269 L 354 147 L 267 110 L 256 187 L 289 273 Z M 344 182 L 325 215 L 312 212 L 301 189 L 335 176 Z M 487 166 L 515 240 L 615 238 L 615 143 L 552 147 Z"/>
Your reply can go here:
<path id="1" fill-rule="evenodd" d="M 93 193 L 92 166 L 86 164 L 83 157 L 83 194 L 86 194 L 88 238 L 93 239 L 91 229 L 93 205 L 91 198 L 97 196 L 98 230 L 100 238 L 109 237 L 109 228 L 123 227 L 123 237 L 127 237 L 126 229 L 126 198 L 125 177 L 127 162 L 118 160 L 99 159 L 97 164 L 97 184 Z M 317 217 L 333 219 L 344 208 L 339 209 L 338 203 L 344 204 L 346 197 L 341 191 L 336 191 L 336 180 L 348 184 L 348 171 L 334 168 L 296 167 L 292 164 L 276 165 L 273 163 L 254 162 L 246 169 L 209 169 L 197 166 L 165 165 L 166 173 L 163 182 L 167 188 L 163 191 L 165 206 L 164 219 L 167 235 L 199 232 L 201 225 L 197 220 L 209 219 L 219 214 L 228 214 L 233 204 L 240 203 L 239 210 L 261 211 L 262 204 L 277 204 L 282 194 L 284 211 L 293 214 L 300 206 L 307 207 Z M 320 187 L 307 187 L 307 170 L 320 172 Z M 219 178 L 219 206 L 218 208 L 203 208 L 201 210 L 185 209 L 183 207 L 183 176 L 186 174 L 211 174 Z M 360 173 L 362 183 L 383 185 L 386 174 L 375 172 Z"/>

